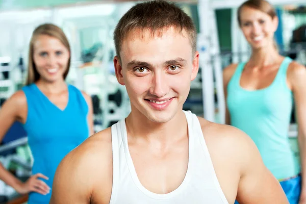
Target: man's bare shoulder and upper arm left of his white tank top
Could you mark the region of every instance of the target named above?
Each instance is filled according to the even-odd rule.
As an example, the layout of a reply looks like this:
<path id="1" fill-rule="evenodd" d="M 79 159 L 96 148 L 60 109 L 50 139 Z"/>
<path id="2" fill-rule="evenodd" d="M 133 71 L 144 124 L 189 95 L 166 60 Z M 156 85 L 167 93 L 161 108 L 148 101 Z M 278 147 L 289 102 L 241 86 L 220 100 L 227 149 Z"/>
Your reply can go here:
<path id="1" fill-rule="evenodd" d="M 51 203 L 107 203 L 112 188 L 111 129 L 96 133 L 69 152 L 55 174 Z M 77 202 L 78 201 L 78 202 Z"/>

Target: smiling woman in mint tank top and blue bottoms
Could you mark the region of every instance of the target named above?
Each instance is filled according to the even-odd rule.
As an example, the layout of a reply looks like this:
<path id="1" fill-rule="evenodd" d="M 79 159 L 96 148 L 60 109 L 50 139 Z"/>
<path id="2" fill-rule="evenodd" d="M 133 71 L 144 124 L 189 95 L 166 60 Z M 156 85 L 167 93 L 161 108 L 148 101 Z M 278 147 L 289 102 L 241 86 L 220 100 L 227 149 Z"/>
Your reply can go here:
<path id="1" fill-rule="evenodd" d="M 299 166 L 288 138 L 294 103 L 300 158 L 306 161 L 306 68 L 278 54 L 273 39 L 278 19 L 268 2 L 244 2 L 238 21 L 252 55 L 223 71 L 226 123 L 251 137 L 289 202 L 306 203 L 306 187 L 301 186 L 306 184 L 306 162 Z"/>

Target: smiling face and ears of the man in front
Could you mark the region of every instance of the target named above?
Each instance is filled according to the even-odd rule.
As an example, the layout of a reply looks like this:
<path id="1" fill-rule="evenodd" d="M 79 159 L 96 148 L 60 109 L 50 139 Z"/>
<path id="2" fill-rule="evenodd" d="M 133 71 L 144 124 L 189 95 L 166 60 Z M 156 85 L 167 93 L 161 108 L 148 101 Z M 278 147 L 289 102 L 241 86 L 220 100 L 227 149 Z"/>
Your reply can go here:
<path id="1" fill-rule="evenodd" d="M 133 114 L 167 122 L 182 111 L 190 82 L 198 72 L 198 53 L 192 55 L 188 35 L 174 28 L 161 36 L 148 30 L 132 32 L 122 42 L 116 76 L 125 85 Z"/>

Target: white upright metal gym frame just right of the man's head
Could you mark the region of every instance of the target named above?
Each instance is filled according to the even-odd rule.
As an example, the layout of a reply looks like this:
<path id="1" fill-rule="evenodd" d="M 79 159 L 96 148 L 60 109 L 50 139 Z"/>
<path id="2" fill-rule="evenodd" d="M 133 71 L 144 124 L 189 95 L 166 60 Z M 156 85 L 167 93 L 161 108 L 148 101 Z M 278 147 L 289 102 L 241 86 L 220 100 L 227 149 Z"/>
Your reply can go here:
<path id="1" fill-rule="evenodd" d="M 220 78 L 220 75 L 222 77 L 221 62 L 219 60 L 211 61 L 211 56 L 220 53 L 213 1 L 199 0 L 198 14 L 200 33 L 198 34 L 197 49 L 200 55 L 199 66 L 202 74 L 203 114 L 207 120 L 215 121 L 215 85 L 213 80 L 215 74 L 220 123 L 224 123 L 225 106 L 223 105 L 222 78 Z"/>

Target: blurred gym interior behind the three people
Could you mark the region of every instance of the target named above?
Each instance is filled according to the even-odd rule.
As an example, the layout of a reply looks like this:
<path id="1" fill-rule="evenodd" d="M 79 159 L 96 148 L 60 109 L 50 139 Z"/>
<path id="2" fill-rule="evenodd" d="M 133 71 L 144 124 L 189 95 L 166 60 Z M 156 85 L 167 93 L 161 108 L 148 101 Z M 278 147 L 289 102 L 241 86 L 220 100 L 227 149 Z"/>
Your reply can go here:
<path id="1" fill-rule="evenodd" d="M 222 69 L 246 61 L 250 48 L 237 23 L 240 0 L 175 1 L 194 20 L 198 32 L 200 70 L 191 84 L 184 110 L 224 123 Z M 279 52 L 306 65 L 306 2 L 273 0 L 279 17 L 275 40 Z M 19 90 L 27 73 L 29 42 L 37 25 L 52 22 L 67 35 L 71 46 L 70 83 L 91 95 L 94 131 L 98 132 L 130 112 L 125 88 L 117 83 L 112 34 L 119 18 L 136 2 L 123 0 L 1 0 L 0 106 Z M 296 156 L 294 111 L 289 139 Z M 0 161 L 21 180 L 31 175 L 33 159 L 27 133 L 13 124 L 0 144 Z M 24 198 L 0 181 L 0 203 L 24 203 Z"/>

